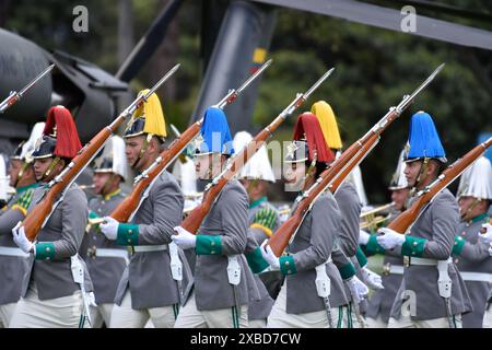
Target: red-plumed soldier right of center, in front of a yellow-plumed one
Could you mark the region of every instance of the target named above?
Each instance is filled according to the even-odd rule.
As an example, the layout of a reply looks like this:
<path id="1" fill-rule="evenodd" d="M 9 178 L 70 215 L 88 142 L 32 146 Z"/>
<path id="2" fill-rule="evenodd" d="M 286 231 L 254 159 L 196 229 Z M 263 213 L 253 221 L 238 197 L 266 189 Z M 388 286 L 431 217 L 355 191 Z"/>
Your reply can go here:
<path id="1" fill-rule="evenodd" d="M 326 147 L 316 116 L 311 113 L 300 115 L 284 160 L 289 189 L 306 190 L 333 160 L 335 154 Z M 330 257 L 340 222 L 337 201 L 330 191 L 326 191 L 313 203 L 288 246 L 286 255 L 278 258 L 267 242 L 261 245 L 265 260 L 272 268 L 280 268 L 285 276 L 268 316 L 269 328 L 343 326 L 343 308 L 349 301 Z"/>

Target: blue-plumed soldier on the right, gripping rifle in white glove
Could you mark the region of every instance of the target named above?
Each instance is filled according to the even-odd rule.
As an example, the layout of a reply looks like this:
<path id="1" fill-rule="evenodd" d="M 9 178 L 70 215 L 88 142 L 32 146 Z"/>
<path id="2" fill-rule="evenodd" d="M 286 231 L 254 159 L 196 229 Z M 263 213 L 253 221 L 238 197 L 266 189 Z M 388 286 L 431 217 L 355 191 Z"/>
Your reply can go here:
<path id="1" fill-rule="evenodd" d="M 447 162 L 427 113 L 412 116 L 405 162 L 408 184 L 417 190 L 435 180 Z M 471 311 L 471 301 L 450 258 L 458 223 L 458 205 L 446 188 L 434 197 L 407 234 L 388 228 L 380 230 L 377 243 L 382 247 L 409 257 L 388 327 L 461 327 L 461 314 Z"/>

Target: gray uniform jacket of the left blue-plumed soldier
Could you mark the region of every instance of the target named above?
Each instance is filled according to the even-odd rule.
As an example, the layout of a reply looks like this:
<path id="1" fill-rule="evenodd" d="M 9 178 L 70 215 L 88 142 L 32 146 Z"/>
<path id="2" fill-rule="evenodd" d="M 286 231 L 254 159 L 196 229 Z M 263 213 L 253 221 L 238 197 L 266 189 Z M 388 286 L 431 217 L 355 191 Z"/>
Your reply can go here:
<path id="1" fill-rule="evenodd" d="M 248 230 L 248 196 L 238 180 L 230 180 L 222 189 L 198 234 L 221 236 L 220 255 L 197 255 L 195 264 L 195 300 L 197 308 L 219 310 L 235 305 L 232 284 L 227 279 L 227 256 L 239 255 L 239 303 L 259 300 L 254 276 L 243 255 Z"/>

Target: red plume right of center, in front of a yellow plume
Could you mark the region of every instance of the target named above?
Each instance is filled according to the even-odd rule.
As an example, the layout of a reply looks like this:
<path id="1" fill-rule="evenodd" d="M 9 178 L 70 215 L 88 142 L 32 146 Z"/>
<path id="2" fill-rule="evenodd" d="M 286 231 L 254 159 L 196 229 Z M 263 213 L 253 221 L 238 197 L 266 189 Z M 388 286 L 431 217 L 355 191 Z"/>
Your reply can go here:
<path id="1" fill-rule="evenodd" d="M 325 137 L 323 136 L 318 118 L 316 118 L 316 116 L 309 112 L 300 115 L 294 127 L 293 140 L 304 139 L 307 139 L 309 161 L 314 159 L 315 151 L 318 162 L 328 163 L 335 161 L 333 152 L 326 145 Z"/>

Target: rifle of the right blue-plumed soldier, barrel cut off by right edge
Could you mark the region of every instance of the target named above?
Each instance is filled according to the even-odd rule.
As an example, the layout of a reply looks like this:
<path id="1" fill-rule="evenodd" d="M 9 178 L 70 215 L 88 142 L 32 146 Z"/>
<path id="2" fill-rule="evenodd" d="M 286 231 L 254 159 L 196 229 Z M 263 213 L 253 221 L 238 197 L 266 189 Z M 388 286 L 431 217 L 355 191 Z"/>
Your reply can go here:
<path id="1" fill-rule="evenodd" d="M 453 183 L 462 172 L 467 170 L 479 156 L 485 153 L 487 149 L 492 144 L 492 137 L 485 142 L 475 147 L 471 151 L 465 154 L 461 159 L 458 159 L 452 165 L 449 165 L 437 178 L 425 186 L 417 194 L 417 200 L 410 208 L 400 213 L 391 223 L 388 229 L 391 229 L 398 233 L 405 234 L 410 225 L 419 219 L 425 209 L 435 198 L 435 196 Z"/>

